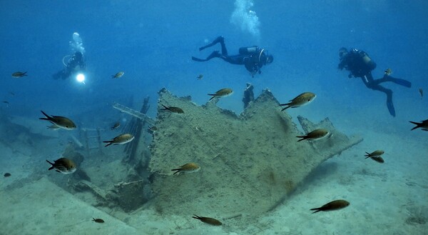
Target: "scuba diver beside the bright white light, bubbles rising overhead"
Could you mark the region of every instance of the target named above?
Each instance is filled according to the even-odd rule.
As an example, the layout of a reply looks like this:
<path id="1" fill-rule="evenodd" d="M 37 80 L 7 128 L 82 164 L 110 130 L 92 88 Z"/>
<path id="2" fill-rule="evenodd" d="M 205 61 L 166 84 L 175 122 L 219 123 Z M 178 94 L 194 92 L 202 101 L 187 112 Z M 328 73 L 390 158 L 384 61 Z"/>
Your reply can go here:
<path id="1" fill-rule="evenodd" d="M 67 79 L 72 74 L 76 74 L 79 71 L 84 71 L 86 68 L 85 60 L 83 59 L 85 48 L 83 47 L 83 42 L 80 35 L 78 35 L 78 33 L 74 33 L 73 41 L 70 41 L 69 43 L 71 49 L 76 52 L 63 57 L 63 65 L 66 67 L 56 72 L 56 74 L 54 74 L 54 79 Z M 66 59 L 68 59 L 67 63 Z"/>

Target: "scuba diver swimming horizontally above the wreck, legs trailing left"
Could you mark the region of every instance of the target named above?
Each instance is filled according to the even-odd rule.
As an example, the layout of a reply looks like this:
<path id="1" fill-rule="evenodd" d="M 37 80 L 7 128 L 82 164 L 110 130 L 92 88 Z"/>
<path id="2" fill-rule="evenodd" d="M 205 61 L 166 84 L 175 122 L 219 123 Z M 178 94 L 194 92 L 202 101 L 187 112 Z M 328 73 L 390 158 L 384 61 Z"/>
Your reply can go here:
<path id="1" fill-rule="evenodd" d="M 249 46 L 249 47 L 241 47 L 239 49 L 239 54 L 234 56 L 228 55 L 228 50 L 225 46 L 225 39 L 223 36 L 218 36 L 212 43 L 202 46 L 199 48 L 199 51 L 206 49 L 210 46 L 214 46 L 215 44 L 220 43 L 221 45 L 221 54 L 218 51 L 213 51 L 207 59 L 198 59 L 192 56 L 194 61 L 209 61 L 213 58 L 220 58 L 224 61 L 229 62 L 230 64 L 243 64 L 245 69 L 250 71 L 251 76 L 254 77 L 255 74 L 261 74 L 260 70 L 263 65 L 270 64 L 273 61 L 273 56 L 268 54 L 265 49 L 260 49 L 258 46 Z"/>

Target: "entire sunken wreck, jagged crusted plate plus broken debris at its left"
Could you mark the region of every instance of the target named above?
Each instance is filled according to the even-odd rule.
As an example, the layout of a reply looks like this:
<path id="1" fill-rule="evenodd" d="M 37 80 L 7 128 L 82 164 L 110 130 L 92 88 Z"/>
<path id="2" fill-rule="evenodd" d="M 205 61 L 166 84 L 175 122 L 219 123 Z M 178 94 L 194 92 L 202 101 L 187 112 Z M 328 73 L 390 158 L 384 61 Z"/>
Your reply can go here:
<path id="1" fill-rule="evenodd" d="M 49 180 L 76 197 L 81 194 L 86 201 L 91 194 L 91 204 L 103 211 L 120 208 L 138 213 L 151 207 L 162 214 L 178 216 L 255 218 L 287 200 L 323 161 L 362 141 L 337 131 L 329 119 L 313 124 L 299 116 L 306 133 L 323 128 L 331 135 L 297 142 L 296 136 L 302 131 L 287 112 L 281 111 L 272 93 L 264 90 L 254 99 L 250 85 L 244 91 L 245 109 L 239 115 L 220 109 L 216 105 L 218 99 L 198 106 L 190 96 L 178 97 L 166 89 L 158 94 L 156 120 L 146 116 L 148 98 L 141 111 L 113 104 L 113 108 L 132 116 L 123 131 L 136 137 L 114 148 L 120 151 L 115 157 L 123 156 L 122 159 L 105 163 L 100 171 L 93 157 L 106 154 L 96 143 L 102 139 L 103 130 L 92 130 L 96 137 L 91 144 L 91 130 L 83 129 L 80 136 L 72 136 L 74 144 L 63 152 L 63 156 L 78 163 L 79 170 L 67 181 L 59 174 L 49 175 Z M 162 110 L 163 105 L 180 107 L 184 112 L 171 113 Z M 16 125 L 21 126 L 22 121 L 16 120 Z M 81 165 L 83 161 L 88 163 Z M 191 174 L 171 171 L 188 163 L 198 164 L 200 170 Z M 31 178 L 41 179 L 44 175 L 43 172 Z M 9 189 L 20 186 L 11 185 Z"/>

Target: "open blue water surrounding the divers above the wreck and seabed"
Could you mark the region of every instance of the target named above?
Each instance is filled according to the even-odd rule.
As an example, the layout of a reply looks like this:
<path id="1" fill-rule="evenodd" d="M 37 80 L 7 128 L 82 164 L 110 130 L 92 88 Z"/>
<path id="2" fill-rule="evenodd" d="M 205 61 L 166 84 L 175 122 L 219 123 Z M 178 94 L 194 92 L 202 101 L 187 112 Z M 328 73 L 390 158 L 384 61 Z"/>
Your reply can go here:
<path id="1" fill-rule="evenodd" d="M 249 25 L 241 28 L 231 19 L 239 4 L 227 0 L 1 1 L 0 99 L 9 102 L 0 104 L 1 114 L 37 119 L 44 110 L 69 116 L 78 125 L 106 127 L 118 115 L 113 102 L 140 109 L 150 96 L 148 114 L 156 117 L 157 92 L 163 87 L 192 96 L 196 104 L 205 104 L 208 93 L 230 87 L 235 94 L 218 105 L 240 112 L 242 91 L 250 82 L 256 95 L 270 89 L 282 103 L 304 91 L 318 95 L 310 106 L 290 110 L 292 116 L 315 121 L 328 116 L 338 129 L 360 134 L 367 128 L 427 138 L 424 131 L 409 132 L 408 122 L 428 119 L 427 1 L 253 3 L 255 15 L 238 11 L 235 21 Z M 63 69 L 63 56 L 72 53 L 68 42 L 74 32 L 86 50 L 86 84 L 52 79 Z M 230 54 L 258 45 L 275 60 L 252 78 L 243 66 L 190 59 L 219 50 L 198 51 L 219 35 Z M 385 84 L 394 91 L 395 118 L 384 94 L 337 69 L 342 46 L 370 54 L 377 63 L 374 78 L 391 68 L 393 76 L 412 81 L 411 89 Z M 28 76 L 14 79 L 15 71 Z M 118 71 L 125 75 L 111 79 Z M 198 74 L 203 79 L 197 80 Z M 423 99 L 419 88 L 426 93 Z M 426 150 L 422 146 L 420 156 L 427 156 Z"/>

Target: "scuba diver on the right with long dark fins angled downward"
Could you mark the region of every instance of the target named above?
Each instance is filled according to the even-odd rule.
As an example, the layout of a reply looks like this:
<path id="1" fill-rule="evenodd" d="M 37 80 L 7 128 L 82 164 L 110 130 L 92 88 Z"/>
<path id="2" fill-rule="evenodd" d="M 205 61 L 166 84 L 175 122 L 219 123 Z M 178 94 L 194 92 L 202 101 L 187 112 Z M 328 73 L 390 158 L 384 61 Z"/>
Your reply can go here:
<path id="1" fill-rule="evenodd" d="M 338 68 L 340 70 L 346 69 L 350 71 L 349 78 L 359 77 L 362 82 L 370 89 L 376 91 L 382 91 L 387 94 L 387 107 L 389 114 L 395 116 L 394 104 L 392 104 L 392 90 L 386 89 L 379 85 L 385 81 L 392 81 L 395 84 L 399 84 L 406 87 L 411 87 L 412 83 L 404 79 L 396 79 L 392 76 L 391 70 L 385 70 L 385 74 L 382 79 L 373 79 L 372 70 L 376 68 L 376 63 L 370 59 L 370 56 L 365 51 L 352 49 L 348 51 L 345 47 L 339 49 L 340 64 Z"/>

